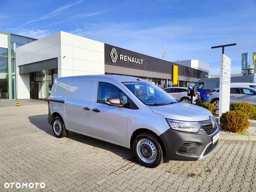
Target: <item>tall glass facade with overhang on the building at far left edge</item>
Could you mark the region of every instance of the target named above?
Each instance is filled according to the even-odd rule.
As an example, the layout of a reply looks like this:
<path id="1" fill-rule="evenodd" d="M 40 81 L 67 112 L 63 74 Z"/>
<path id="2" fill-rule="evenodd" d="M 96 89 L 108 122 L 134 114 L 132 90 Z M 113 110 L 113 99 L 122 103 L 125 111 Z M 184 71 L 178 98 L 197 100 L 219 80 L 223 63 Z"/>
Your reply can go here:
<path id="1" fill-rule="evenodd" d="M 8 49 L 6 44 L 1 45 L 0 42 L 0 99 L 16 99 L 15 49 L 36 39 L 7 32 L 0 34 L 6 35 L 8 39 Z"/>

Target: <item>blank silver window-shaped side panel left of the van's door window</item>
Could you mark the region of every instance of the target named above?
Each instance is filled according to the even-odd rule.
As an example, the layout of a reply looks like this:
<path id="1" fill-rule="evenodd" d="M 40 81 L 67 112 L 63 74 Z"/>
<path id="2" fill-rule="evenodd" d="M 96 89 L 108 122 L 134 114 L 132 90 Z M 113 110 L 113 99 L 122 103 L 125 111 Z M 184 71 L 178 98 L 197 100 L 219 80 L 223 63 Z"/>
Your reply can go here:
<path id="1" fill-rule="evenodd" d="M 67 97 L 93 102 L 95 81 L 70 81 Z"/>

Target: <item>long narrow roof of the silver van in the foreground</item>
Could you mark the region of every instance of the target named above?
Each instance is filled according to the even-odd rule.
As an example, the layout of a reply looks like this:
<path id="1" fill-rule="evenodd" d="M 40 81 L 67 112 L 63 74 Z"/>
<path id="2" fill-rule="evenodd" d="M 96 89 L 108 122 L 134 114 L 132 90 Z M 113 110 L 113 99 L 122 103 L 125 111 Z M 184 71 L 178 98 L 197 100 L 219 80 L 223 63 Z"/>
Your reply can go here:
<path id="1" fill-rule="evenodd" d="M 105 79 L 111 79 L 114 81 L 137 81 L 137 77 L 131 77 L 131 76 L 120 76 L 120 75 L 84 75 L 84 76 L 68 76 L 68 77 L 59 77 L 56 79 L 57 82 L 64 82 L 64 81 L 73 81 L 77 79 L 77 81 L 82 81 L 83 79 L 90 78 L 91 80 L 94 79 L 96 81 L 97 78 L 105 78 Z M 145 81 L 144 79 L 140 79 L 140 81 Z"/>

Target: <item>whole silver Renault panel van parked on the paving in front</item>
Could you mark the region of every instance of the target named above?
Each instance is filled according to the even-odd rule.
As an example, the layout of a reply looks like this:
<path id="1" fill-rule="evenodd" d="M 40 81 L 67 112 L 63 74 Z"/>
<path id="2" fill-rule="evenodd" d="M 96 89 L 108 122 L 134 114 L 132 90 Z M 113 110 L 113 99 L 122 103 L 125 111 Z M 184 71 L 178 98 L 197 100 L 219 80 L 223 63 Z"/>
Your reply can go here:
<path id="1" fill-rule="evenodd" d="M 73 131 L 131 148 L 150 168 L 164 159 L 202 160 L 218 147 L 219 129 L 210 111 L 177 102 L 135 77 L 58 78 L 48 105 L 48 123 L 56 137 Z"/>

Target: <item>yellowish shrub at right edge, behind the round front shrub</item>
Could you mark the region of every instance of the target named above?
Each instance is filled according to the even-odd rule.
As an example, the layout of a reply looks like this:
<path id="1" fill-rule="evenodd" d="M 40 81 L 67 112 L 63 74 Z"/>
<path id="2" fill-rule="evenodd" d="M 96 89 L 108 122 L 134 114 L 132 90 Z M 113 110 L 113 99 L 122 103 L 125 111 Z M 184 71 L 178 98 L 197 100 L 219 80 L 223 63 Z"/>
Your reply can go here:
<path id="1" fill-rule="evenodd" d="M 247 114 L 249 119 L 256 118 L 256 106 L 246 102 L 232 103 L 230 104 L 230 111 L 242 111 Z"/>

